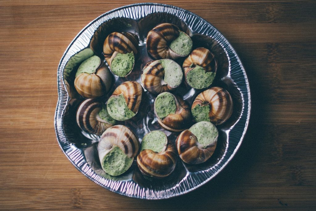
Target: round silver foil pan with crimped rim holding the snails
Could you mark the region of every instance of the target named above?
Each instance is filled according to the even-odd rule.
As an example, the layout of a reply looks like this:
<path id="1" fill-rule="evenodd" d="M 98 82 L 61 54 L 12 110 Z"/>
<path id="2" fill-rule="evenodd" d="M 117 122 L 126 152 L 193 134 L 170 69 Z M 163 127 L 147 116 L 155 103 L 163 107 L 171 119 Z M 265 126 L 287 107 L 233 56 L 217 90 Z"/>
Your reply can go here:
<path id="1" fill-rule="evenodd" d="M 196 47 L 210 49 L 218 60 L 216 78 L 211 86 L 225 88 L 233 98 L 234 110 L 231 118 L 217 126 L 219 138 L 216 151 L 205 163 L 184 164 L 180 160 L 175 171 L 165 179 L 144 178 L 134 161 L 132 167 L 121 176 L 106 174 L 98 158 L 99 136 L 83 132 L 76 124 L 76 109 L 83 98 L 74 89 L 76 68 L 69 68 L 70 58 L 76 57 L 83 49 L 93 48 L 101 57 L 103 42 L 114 31 L 133 32 L 139 36 L 141 56 L 133 72 L 126 78 L 114 77 L 112 91 L 124 81 L 136 80 L 144 64 L 152 60 L 146 51 L 146 36 L 149 30 L 159 23 L 168 22 L 187 32 Z M 69 63 L 68 63 L 69 62 Z M 178 61 L 181 63 L 181 61 Z M 182 61 L 183 62 L 183 61 Z M 180 64 L 182 65 L 182 63 Z M 178 7 L 158 4 L 132 4 L 111 10 L 89 23 L 70 43 L 58 66 L 58 104 L 55 113 L 55 130 L 58 144 L 70 162 L 85 176 L 113 192 L 142 199 L 163 199 L 179 196 L 205 184 L 214 178 L 233 158 L 245 135 L 250 115 L 250 89 L 247 76 L 237 53 L 226 38 L 209 22 Z M 191 89 L 183 82 L 176 94 L 192 104 L 201 91 Z M 152 130 L 161 130 L 153 111 L 155 96 L 147 91 L 142 109 L 137 117 L 123 124 L 130 127 L 139 141 Z M 110 95 L 109 94 L 109 95 Z M 107 96 L 109 97 L 109 96 Z M 179 133 L 164 131 L 174 143 Z"/>

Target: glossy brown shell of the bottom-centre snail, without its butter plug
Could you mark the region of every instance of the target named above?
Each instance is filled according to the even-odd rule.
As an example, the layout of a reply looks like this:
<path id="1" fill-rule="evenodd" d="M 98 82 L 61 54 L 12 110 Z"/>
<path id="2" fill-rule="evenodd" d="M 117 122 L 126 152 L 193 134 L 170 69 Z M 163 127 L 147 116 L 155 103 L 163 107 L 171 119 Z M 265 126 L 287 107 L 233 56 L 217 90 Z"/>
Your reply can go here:
<path id="1" fill-rule="evenodd" d="M 151 149 L 145 149 L 137 156 L 139 170 L 147 176 L 164 178 L 170 175 L 177 163 L 177 150 L 173 144 L 168 143 L 167 148 L 156 153 Z"/>

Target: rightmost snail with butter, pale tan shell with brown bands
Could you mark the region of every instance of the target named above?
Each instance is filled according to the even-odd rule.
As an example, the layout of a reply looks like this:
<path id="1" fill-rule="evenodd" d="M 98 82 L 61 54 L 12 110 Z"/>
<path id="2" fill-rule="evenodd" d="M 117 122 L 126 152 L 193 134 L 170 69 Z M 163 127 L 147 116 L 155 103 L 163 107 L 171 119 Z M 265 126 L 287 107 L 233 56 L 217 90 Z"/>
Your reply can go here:
<path id="1" fill-rule="evenodd" d="M 212 87 L 197 95 L 191 111 L 196 122 L 210 121 L 220 125 L 233 113 L 233 100 L 225 89 Z"/>

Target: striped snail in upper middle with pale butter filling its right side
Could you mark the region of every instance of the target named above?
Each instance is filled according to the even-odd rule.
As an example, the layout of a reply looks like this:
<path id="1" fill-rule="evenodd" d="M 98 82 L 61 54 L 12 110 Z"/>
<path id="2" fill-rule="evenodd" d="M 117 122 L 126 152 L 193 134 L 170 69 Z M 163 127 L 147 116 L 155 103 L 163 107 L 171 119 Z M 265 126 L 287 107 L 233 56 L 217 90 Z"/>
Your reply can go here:
<path id="1" fill-rule="evenodd" d="M 165 59 L 165 60 L 169 60 L 169 59 Z M 176 62 L 174 62 L 173 66 L 174 65 L 176 65 L 176 67 L 179 66 Z M 158 95 L 165 91 L 174 90 L 176 87 L 178 87 L 181 84 L 183 73 L 180 66 L 178 69 L 172 68 L 172 70 L 173 72 L 169 74 L 174 75 L 173 77 L 179 78 L 179 83 L 178 82 L 175 84 L 170 83 L 169 85 L 166 81 L 164 81 L 165 68 L 162 66 L 161 60 L 148 62 L 143 68 L 143 74 L 141 76 L 141 80 L 142 80 L 142 84 L 144 88 L 150 93 L 153 93 L 155 95 Z"/>

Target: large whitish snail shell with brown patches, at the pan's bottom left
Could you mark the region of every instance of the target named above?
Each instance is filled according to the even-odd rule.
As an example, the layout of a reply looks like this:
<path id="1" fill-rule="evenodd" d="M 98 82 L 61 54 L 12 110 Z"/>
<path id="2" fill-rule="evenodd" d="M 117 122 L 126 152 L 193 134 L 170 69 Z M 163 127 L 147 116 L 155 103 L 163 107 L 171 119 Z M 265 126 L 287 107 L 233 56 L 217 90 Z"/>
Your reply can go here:
<path id="1" fill-rule="evenodd" d="M 111 165 L 111 163 L 104 163 L 106 155 L 111 153 L 111 151 L 118 147 L 125 155 L 126 157 L 130 158 L 127 159 L 128 163 L 126 161 L 122 162 L 122 165 L 116 167 L 114 166 L 113 171 L 109 171 L 104 167 L 104 164 Z M 131 167 L 133 158 L 138 154 L 139 151 L 139 141 L 135 134 L 126 126 L 124 125 L 115 125 L 110 128 L 108 128 L 102 135 L 98 144 L 98 153 L 99 153 L 99 159 L 101 162 L 102 169 L 112 175 L 112 176 L 118 176 L 125 171 L 128 170 L 129 167 Z M 115 162 L 115 159 L 112 160 Z M 115 169 L 115 168 L 121 168 L 122 169 Z"/>

